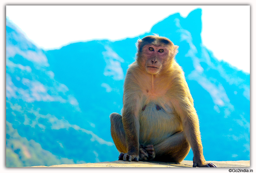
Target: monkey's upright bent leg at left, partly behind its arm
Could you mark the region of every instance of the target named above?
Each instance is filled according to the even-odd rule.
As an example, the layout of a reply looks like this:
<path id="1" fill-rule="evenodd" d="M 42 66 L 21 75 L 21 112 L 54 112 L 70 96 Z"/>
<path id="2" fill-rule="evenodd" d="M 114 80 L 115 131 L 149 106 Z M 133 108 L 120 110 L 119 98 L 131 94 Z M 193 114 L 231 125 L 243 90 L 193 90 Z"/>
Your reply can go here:
<path id="1" fill-rule="evenodd" d="M 123 128 L 122 116 L 118 113 L 110 114 L 110 123 L 111 136 L 116 145 L 117 150 L 121 153 L 127 153 L 126 138 Z"/>

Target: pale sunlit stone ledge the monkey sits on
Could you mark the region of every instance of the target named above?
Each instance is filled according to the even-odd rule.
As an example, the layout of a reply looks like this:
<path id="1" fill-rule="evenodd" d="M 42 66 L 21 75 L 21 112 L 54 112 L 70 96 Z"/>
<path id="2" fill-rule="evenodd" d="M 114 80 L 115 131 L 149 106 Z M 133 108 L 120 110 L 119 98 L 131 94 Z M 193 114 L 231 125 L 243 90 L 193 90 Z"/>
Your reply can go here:
<path id="1" fill-rule="evenodd" d="M 211 161 L 217 167 L 250 167 L 250 161 Z M 105 161 L 99 163 L 52 165 L 52 166 L 32 166 L 32 167 L 192 167 L 193 161 L 182 161 L 180 164 L 166 163 L 159 161 Z"/>

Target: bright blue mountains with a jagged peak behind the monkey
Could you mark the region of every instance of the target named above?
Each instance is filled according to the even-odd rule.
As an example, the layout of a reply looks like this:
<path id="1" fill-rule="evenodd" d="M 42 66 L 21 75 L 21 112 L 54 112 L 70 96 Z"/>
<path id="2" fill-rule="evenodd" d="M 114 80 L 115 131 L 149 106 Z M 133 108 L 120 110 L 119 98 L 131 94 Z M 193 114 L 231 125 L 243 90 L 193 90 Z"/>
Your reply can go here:
<path id="1" fill-rule="evenodd" d="M 194 99 L 205 159 L 249 160 L 250 74 L 216 59 L 202 44 L 201 27 L 195 9 L 134 38 L 45 51 L 6 19 L 6 166 L 117 160 L 109 114 L 121 111 L 135 43 L 153 33 L 179 46 L 176 61 Z M 190 151 L 185 159 L 192 158 Z"/>

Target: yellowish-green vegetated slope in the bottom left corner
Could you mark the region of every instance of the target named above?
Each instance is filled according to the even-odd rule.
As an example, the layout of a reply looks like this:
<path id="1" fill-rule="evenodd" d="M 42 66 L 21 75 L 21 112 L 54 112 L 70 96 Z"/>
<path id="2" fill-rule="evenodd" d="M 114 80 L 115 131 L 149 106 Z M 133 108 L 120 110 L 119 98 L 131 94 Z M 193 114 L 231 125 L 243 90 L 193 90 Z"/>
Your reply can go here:
<path id="1" fill-rule="evenodd" d="M 85 163 L 80 161 L 78 163 Z M 74 164 L 73 159 L 61 158 L 44 150 L 34 140 L 21 137 L 12 124 L 6 121 L 6 167 L 24 167 L 36 165 Z"/>

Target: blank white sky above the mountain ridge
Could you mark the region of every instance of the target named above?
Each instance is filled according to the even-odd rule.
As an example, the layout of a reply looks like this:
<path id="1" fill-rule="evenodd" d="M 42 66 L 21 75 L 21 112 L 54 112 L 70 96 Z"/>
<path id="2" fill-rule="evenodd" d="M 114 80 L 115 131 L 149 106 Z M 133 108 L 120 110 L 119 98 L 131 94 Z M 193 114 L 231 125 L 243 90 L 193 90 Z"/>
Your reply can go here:
<path id="1" fill-rule="evenodd" d="M 95 38 L 118 40 L 138 36 L 173 13 L 186 17 L 195 8 L 202 9 L 203 44 L 216 58 L 250 73 L 248 5 L 6 6 L 6 16 L 38 47 L 48 50 Z"/>

